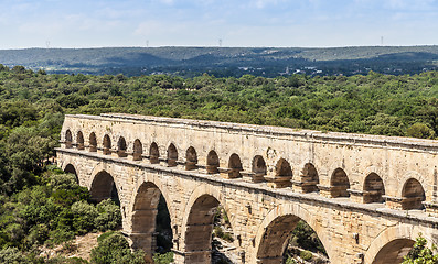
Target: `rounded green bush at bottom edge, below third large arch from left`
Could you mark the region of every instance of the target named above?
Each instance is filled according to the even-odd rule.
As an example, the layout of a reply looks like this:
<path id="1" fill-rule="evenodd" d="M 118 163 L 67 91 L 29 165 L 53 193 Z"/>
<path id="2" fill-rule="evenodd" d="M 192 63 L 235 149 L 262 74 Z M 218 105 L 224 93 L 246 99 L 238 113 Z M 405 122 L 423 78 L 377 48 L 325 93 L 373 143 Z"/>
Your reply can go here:
<path id="1" fill-rule="evenodd" d="M 92 250 L 92 263 L 95 264 L 136 264 L 146 263 L 145 253 L 131 252 L 128 241 L 119 232 L 99 237 L 98 246 Z"/>

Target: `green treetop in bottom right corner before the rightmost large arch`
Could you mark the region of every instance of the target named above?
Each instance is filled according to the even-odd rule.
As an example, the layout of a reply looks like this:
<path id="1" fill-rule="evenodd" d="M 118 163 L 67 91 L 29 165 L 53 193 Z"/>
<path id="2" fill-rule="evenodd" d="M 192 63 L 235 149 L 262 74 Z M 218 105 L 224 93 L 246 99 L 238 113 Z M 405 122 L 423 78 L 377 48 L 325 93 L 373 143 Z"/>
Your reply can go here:
<path id="1" fill-rule="evenodd" d="M 434 254 L 437 251 L 436 245 L 432 248 L 427 246 L 427 240 L 420 234 L 409 251 L 404 257 L 403 264 L 437 264 L 438 254 Z"/>

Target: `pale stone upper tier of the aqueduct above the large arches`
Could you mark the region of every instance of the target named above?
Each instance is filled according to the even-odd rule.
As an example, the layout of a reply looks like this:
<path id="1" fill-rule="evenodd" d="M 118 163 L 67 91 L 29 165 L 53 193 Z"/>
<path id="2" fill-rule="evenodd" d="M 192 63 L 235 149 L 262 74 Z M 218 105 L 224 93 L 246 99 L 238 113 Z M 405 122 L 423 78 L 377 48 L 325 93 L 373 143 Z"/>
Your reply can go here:
<path id="1" fill-rule="evenodd" d="M 431 189 L 438 182 L 437 141 L 130 114 L 67 114 L 64 145 L 81 145 L 70 136 L 79 132 L 87 135 L 89 151 L 97 147 L 107 155 L 118 153 L 142 163 L 165 162 L 254 183 L 267 180 L 276 188 L 292 184 L 293 190 L 303 193 L 339 188 L 339 194 L 329 195 L 362 202 L 391 199 L 387 207 L 400 208 L 406 180 L 416 178 L 426 205 L 438 197 L 438 190 Z M 278 174 L 278 161 L 292 169 L 286 175 L 290 183 L 287 178 L 279 183 L 278 176 L 285 175 Z M 343 172 L 338 169 L 334 177 L 336 168 Z"/>

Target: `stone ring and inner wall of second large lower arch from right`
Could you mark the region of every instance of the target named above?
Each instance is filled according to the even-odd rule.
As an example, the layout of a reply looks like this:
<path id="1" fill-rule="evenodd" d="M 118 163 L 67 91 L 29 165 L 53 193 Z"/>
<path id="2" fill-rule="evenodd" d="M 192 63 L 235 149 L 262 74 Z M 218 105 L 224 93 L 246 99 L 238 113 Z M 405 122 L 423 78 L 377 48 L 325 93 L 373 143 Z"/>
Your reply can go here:
<path id="1" fill-rule="evenodd" d="M 332 253 L 331 237 L 324 233 L 320 221 L 298 204 L 282 204 L 273 208 L 257 229 L 253 263 L 282 263 L 286 244 L 299 220 L 307 222 L 323 244 L 331 263 L 341 263 Z M 258 261 L 258 262 L 257 262 Z"/>

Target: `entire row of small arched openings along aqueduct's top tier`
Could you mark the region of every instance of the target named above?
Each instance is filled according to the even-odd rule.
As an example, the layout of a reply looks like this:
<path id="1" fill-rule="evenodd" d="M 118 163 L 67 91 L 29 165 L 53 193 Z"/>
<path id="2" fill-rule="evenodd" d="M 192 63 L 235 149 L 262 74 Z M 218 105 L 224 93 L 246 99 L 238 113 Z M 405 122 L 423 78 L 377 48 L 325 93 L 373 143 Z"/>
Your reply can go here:
<path id="1" fill-rule="evenodd" d="M 97 139 L 96 134 L 92 132 L 88 139 L 88 150 L 89 152 L 97 152 Z M 85 150 L 84 136 L 81 131 L 76 135 L 76 144 L 73 144 L 73 136 L 70 130 L 65 133 L 65 145 L 66 147 L 76 146 L 78 150 Z M 111 140 L 108 134 L 104 135 L 103 139 L 103 154 L 110 155 L 113 153 Z M 133 161 L 141 161 L 143 157 L 148 157 L 151 164 L 160 163 L 160 152 L 158 144 L 152 142 L 149 147 L 149 156 L 143 155 L 142 143 L 139 139 L 133 141 L 132 153 L 127 153 L 127 143 L 124 136 L 120 136 L 117 142 L 116 153 L 119 157 L 127 157 L 128 154 L 132 155 Z M 178 162 L 178 150 L 173 143 L 168 146 L 165 162 L 168 166 L 173 167 L 179 164 Z M 186 170 L 196 169 L 203 167 L 197 164 L 197 153 L 193 146 L 190 146 L 185 152 L 185 162 L 183 165 Z M 206 156 L 207 174 L 226 173 L 229 178 L 239 178 L 242 176 L 248 176 L 252 182 L 269 182 L 271 178 L 267 177 L 267 166 L 264 157 L 261 155 L 256 155 L 253 158 L 252 172 L 244 172 L 241 157 L 233 153 L 228 160 L 228 166 L 222 168 L 220 166 L 220 158 L 217 153 L 212 150 Z M 275 166 L 275 178 L 291 178 L 292 169 L 290 164 L 285 158 L 279 158 Z M 300 175 L 301 180 L 293 184 L 301 186 L 303 193 L 319 191 L 321 186 L 319 186 L 318 172 L 313 164 L 307 163 L 302 169 L 302 175 Z M 276 180 L 276 179 L 274 179 Z M 286 182 L 291 183 L 289 179 Z M 331 175 L 330 179 L 330 196 L 332 198 L 336 197 L 350 197 L 350 180 L 346 173 L 342 168 L 335 168 Z M 365 177 L 363 185 L 363 202 L 384 202 L 385 187 L 382 178 L 376 173 L 371 173 Z M 423 201 L 426 199 L 425 191 L 421 184 L 415 179 L 409 178 L 403 187 L 402 191 L 402 209 L 423 209 Z"/>

